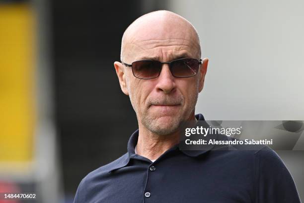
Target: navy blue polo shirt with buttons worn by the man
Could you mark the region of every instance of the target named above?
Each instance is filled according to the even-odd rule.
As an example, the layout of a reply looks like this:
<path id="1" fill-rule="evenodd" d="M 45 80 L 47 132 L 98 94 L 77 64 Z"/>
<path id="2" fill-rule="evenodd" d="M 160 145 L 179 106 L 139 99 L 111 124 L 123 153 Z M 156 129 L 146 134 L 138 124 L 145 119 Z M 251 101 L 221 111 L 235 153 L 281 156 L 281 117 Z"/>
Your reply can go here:
<path id="1" fill-rule="evenodd" d="M 202 114 L 196 115 L 204 120 Z M 82 179 L 74 203 L 300 203 L 279 156 L 259 150 L 188 150 L 179 145 L 154 162 L 134 148 Z"/>

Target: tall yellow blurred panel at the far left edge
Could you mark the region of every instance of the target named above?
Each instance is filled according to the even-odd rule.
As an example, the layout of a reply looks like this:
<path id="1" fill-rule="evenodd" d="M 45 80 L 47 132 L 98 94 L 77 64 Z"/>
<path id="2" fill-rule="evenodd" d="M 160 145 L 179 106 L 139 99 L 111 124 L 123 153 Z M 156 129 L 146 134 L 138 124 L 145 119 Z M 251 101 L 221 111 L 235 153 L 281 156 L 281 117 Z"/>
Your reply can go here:
<path id="1" fill-rule="evenodd" d="M 33 160 L 34 19 L 28 4 L 0 4 L 0 163 Z"/>

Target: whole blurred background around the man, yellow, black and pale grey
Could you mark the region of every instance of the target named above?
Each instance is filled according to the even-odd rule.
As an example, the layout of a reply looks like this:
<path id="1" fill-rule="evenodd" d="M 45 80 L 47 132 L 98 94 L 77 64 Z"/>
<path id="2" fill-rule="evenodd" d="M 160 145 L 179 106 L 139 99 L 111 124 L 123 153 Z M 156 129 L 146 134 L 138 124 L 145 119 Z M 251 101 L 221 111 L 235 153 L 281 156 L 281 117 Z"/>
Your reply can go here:
<path id="1" fill-rule="evenodd" d="M 0 193 L 72 203 L 87 173 L 127 151 L 137 120 L 113 62 L 127 26 L 153 10 L 176 12 L 199 32 L 210 61 L 197 113 L 304 120 L 303 8 L 302 0 L 0 0 Z M 304 200 L 304 151 L 278 153 Z"/>

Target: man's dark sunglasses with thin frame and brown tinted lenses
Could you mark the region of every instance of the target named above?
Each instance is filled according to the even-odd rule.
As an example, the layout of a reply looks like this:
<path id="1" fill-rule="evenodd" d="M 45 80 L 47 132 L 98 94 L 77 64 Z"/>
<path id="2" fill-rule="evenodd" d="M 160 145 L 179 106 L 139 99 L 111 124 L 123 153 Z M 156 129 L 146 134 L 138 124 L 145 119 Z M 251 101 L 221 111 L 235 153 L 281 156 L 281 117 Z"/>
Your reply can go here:
<path id="1" fill-rule="evenodd" d="M 189 78 L 198 72 L 202 59 L 176 59 L 170 62 L 159 62 L 152 60 L 135 61 L 132 64 L 121 62 L 127 67 L 132 67 L 134 77 L 144 80 L 157 78 L 160 75 L 162 64 L 169 64 L 172 76 L 176 78 Z"/>

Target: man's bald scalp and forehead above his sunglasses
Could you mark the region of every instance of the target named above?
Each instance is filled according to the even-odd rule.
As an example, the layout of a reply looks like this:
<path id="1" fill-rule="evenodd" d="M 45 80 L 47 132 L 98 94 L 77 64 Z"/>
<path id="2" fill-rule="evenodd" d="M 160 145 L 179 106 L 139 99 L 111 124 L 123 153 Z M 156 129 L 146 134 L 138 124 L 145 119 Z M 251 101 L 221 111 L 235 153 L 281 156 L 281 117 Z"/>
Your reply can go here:
<path id="1" fill-rule="evenodd" d="M 159 10 L 137 18 L 126 29 L 122 37 L 121 60 L 132 63 L 143 59 L 146 53 L 150 56 L 152 54 L 154 59 L 163 61 L 164 53 L 159 53 L 156 49 L 160 46 L 164 47 L 163 50 L 166 50 L 165 47 L 175 46 L 176 53 L 185 57 L 201 57 L 199 36 L 194 26 L 176 13 Z M 186 50 L 191 50 L 191 53 L 185 53 Z M 170 54 L 173 58 L 179 57 Z"/>

